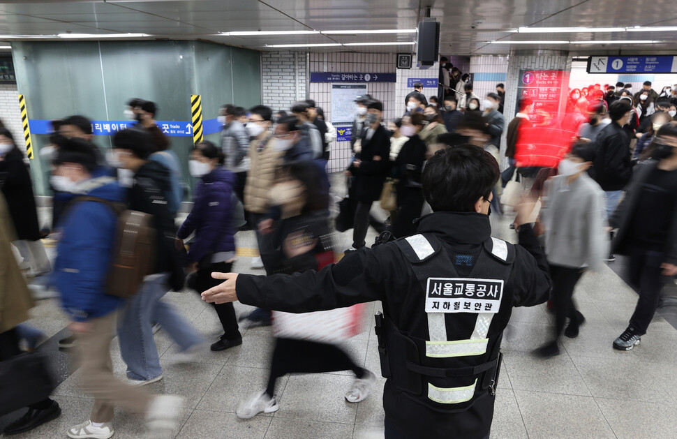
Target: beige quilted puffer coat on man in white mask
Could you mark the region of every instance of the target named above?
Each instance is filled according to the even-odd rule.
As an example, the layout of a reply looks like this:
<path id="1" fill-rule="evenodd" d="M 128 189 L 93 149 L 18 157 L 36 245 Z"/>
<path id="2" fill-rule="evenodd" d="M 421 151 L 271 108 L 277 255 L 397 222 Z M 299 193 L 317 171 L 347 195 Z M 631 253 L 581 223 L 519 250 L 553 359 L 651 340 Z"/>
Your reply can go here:
<path id="1" fill-rule="evenodd" d="M 268 193 L 286 152 L 276 150 L 275 137 L 270 137 L 265 147 L 258 151 L 260 143 L 254 139 L 249 144 L 251 168 L 244 186 L 244 208 L 253 214 L 267 213 L 270 207 Z"/>

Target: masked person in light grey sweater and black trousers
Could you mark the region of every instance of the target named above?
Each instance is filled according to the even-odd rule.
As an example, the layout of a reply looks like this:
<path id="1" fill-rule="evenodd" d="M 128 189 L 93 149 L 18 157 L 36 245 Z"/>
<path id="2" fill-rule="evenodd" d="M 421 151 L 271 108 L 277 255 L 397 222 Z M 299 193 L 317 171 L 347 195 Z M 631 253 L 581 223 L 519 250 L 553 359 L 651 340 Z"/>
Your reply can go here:
<path id="1" fill-rule="evenodd" d="M 578 336 L 579 327 L 586 319 L 572 299 L 574 288 L 585 271 L 601 271 L 603 260 L 609 254 L 604 191 L 587 173 L 594 160 L 595 144 L 574 144 L 560 161 L 559 175 L 546 181 L 544 187 L 538 222 L 541 227 L 537 230 L 545 235 L 556 317 L 551 341 L 535 351 L 539 357 L 559 355 L 557 341 L 567 318 L 565 336 Z"/>

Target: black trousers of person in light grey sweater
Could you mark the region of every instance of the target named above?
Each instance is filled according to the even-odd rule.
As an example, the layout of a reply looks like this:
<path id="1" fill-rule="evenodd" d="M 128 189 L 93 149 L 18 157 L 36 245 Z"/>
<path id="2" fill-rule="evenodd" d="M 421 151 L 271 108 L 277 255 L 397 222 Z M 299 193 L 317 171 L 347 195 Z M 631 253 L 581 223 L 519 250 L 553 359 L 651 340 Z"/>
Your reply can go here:
<path id="1" fill-rule="evenodd" d="M 555 339 L 562 335 L 567 317 L 571 320 L 571 325 L 581 324 L 581 313 L 574 304 L 574 288 L 583 271 L 580 268 L 560 267 L 559 265 L 550 266 L 550 276 L 552 278 L 553 289 L 552 298 L 555 308 Z"/>

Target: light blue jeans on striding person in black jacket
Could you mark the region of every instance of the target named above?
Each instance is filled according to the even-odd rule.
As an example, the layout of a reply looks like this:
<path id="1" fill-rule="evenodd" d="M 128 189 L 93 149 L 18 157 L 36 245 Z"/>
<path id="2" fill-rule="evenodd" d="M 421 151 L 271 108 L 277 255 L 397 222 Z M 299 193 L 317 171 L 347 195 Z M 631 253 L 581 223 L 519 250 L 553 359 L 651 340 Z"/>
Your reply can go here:
<path id="1" fill-rule="evenodd" d="M 127 377 L 132 380 L 145 381 L 162 375 L 152 322 L 162 325 L 181 350 L 204 343 L 202 334 L 173 306 L 161 300 L 169 290 L 168 280 L 169 274 L 164 273 L 144 281 L 122 310 L 117 332 Z"/>

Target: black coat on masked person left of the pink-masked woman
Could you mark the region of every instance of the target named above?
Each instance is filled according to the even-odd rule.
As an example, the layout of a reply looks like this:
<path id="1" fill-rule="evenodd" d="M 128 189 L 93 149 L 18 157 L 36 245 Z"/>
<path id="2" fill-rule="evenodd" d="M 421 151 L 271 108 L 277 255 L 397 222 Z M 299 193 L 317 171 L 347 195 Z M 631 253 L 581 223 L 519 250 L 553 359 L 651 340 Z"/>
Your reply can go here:
<path id="1" fill-rule="evenodd" d="M 383 182 L 389 174 L 390 134 L 382 125 L 369 140 L 366 140 L 366 133 L 362 138 L 362 151 L 355 155 L 362 163 L 359 167 L 351 163 L 348 170 L 355 176 L 352 179 L 352 197 L 358 202 L 370 203 L 381 198 Z"/>

